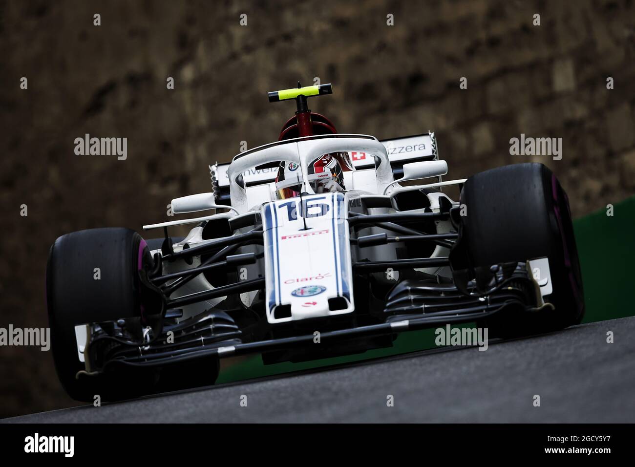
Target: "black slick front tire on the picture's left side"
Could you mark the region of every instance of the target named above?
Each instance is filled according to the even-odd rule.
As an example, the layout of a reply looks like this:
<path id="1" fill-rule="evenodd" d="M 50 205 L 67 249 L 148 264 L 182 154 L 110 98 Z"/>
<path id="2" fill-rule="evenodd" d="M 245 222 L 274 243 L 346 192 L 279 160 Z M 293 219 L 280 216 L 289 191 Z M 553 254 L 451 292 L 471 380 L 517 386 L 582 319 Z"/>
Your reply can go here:
<path id="1" fill-rule="evenodd" d="M 145 241 L 124 228 L 90 229 L 60 236 L 46 267 L 46 302 L 51 350 L 62 386 L 74 399 L 93 402 L 147 393 L 156 371 L 119 369 L 84 376 L 75 326 L 139 316 L 142 309 L 138 271 L 151 261 Z"/>

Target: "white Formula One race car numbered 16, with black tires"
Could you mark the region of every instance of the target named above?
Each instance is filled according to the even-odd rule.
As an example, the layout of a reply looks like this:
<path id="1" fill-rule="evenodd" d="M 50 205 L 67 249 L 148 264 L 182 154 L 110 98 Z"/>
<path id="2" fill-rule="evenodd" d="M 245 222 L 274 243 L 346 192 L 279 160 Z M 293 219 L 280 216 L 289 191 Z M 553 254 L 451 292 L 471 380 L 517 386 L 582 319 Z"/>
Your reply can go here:
<path id="1" fill-rule="evenodd" d="M 227 356 L 361 353 L 448 323 L 512 337 L 580 322 L 570 210 L 547 167 L 443 181 L 434 133 L 337 133 L 307 107 L 331 89 L 269 93 L 297 103 L 277 142 L 211 165 L 211 193 L 171 203 L 174 213 L 215 213 L 144 226 L 163 229 L 154 240 L 103 228 L 55 241 L 46 295 L 70 396 L 213 384 Z M 432 180 L 404 184 L 420 179 Z M 180 224 L 196 225 L 171 238 Z"/>

